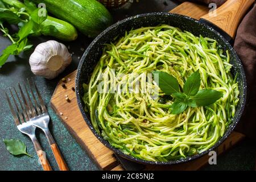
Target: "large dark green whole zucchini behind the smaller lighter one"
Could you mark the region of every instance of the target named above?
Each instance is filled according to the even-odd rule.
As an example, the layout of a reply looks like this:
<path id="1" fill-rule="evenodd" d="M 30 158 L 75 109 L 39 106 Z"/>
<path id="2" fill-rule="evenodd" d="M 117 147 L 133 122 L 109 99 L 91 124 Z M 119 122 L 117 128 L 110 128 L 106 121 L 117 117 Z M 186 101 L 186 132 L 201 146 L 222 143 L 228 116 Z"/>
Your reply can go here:
<path id="1" fill-rule="evenodd" d="M 46 4 L 57 18 L 75 26 L 89 37 L 95 37 L 112 24 L 109 11 L 96 0 L 32 0 Z"/>

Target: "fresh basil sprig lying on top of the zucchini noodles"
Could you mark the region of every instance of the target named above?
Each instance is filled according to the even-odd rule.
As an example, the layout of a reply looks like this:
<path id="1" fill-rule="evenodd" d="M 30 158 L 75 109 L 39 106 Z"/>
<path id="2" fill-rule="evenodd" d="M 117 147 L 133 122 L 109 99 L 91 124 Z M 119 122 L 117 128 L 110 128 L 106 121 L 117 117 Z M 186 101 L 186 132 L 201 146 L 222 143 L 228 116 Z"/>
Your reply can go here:
<path id="1" fill-rule="evenodd" d="M 199 71 L 192 73 L 187 78 L 183 86 L 183 92 L 180 92 L 179 82 L 174 76 L 159 71 L 155 71 L 154 76 L 159 78 L 159 88 L 174 98 L 174 103 L 171 105 L 172 114 L 180 114 L 188 106 L 200 107 L 211 105 L 223 96 L 223 93 L 217 90 L 199 90 L 201 82 Z"/>

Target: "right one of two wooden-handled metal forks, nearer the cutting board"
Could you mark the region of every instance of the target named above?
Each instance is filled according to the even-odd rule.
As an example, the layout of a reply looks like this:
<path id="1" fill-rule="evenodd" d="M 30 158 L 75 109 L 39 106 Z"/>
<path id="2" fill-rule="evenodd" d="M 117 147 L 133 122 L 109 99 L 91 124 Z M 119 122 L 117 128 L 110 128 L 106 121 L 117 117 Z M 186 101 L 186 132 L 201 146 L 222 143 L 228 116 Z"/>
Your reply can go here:
<path id="1" fill-rule="evenodd" d="M 32 101 L 30 100 L 30 97 L 28 94 L 28 90 L 27 90 L 26 86 L 24 85 L 24 88 L 26 90 L 27 97 L 28 97 L 27 106 L 28 106 L 28 109 L 30 110 L 30 114 L 31 114 L 30 121 L 31 121 L 32 125 L 39 127 L 40 129 L 42 129 L 44 131 L 44 134 L 46 134 L 46 138 L 48 139 L 48 142 L 51 146 L 53 155 L 55 156 L 55 160 L 59 166 L 59 169 L 61 171 L 68 171 L 69 170 L 68 166 L 65 163 L 65 160 L 64 160 L 63 156 L 61 155 L 61 152 L 60 152 L 59 148 L 57 147 L 57 144 L 56 144 L 55 140 L 53 139 L 51 132 L 48 129 L 48 124 L 49 124 L 50 118 L 49 118 L 48 111 L 46 109 L 46 105 L 44 105 L 42 96 L 33 80 L 29 81 L 27 79 L 27 82 L 28 82 L 28 88 L 31 91 L 32 98 L 35 103 L 35 107 L 33 107 Z M 39 103 L 36 100 L 36 97 L 34 95 L 32 87 L 35 88 Z"/>

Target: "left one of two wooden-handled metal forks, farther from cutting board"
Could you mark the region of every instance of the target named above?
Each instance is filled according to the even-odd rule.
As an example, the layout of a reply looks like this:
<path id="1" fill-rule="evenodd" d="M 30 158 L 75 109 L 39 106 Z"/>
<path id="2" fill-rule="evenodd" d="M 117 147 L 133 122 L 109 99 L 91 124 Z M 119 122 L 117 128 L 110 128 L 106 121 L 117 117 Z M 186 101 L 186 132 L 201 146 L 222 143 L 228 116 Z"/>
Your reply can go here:
<path id="1" fill-rule="evenodd" d="M 19 89 L 20 89 L 20 85 L 19 85 Z M 38 154 L 40 163 L 42 164 L 44 171 L 52 171 L 52 168 L 49 165 L 49 162 L 46 158 L 45 152 L 42 150 L 42 147 L 40 146 L 38 139 L 36 139 L 36 136 L 35 136 L 36 127 L 34 125 L 32 125 L 31 122 L 27 122 L 27 121 L 29 121 L 28 115 L 27 115 L 27 110 L 24 108 L 22 102 L 20 101 L 20 98 L 18 96 L 16 89 L 13 88 L 14 93 L 15 93 L 16 97 L 18 98 L 20 107 L 15 100 L 13 92 L 11 91 L 11 89 L 9 89 L 9 90 L 10 90 L 11 97 L 14 101 L 16 110 L 14 109 L 13 105 L 11 104 L 10 98 L 7 95 L 7 93 L 5 93 L 6 99 L 10 106 L 10 110 L 11 110 L 11 113 L 13 114 L 14 121 L 15 121 L 16 126 L 18 127 L 18 130 L 20 132 L 22 132 L 23 134 L 28 135 L 28 137 L 30 137 L 30 139 L 32 140 L 35 150 L 36 150 L 36 154 Z M 20 92 L 21 92 L 21 90 L 20 90 Z"/>

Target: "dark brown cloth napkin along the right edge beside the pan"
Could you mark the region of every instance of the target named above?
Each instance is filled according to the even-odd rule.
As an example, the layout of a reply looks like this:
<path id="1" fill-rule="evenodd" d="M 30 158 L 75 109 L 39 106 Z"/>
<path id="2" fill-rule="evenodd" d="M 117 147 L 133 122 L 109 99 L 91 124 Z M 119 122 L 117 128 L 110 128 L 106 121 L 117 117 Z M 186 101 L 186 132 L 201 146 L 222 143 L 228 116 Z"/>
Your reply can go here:
<path id="1" fill-rule="evenodd" d="M 179 0 L 184 2 L 185 0 Z M 221 6 L 226 0 L 191 0 L 200 3 L 216 3 Z M 256 140 L 256 4 L 243 18 L 234 41 L 236 49 L 246 72 L 247 104 L 243 117 L 236 130 Z"/>

